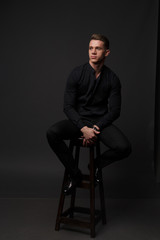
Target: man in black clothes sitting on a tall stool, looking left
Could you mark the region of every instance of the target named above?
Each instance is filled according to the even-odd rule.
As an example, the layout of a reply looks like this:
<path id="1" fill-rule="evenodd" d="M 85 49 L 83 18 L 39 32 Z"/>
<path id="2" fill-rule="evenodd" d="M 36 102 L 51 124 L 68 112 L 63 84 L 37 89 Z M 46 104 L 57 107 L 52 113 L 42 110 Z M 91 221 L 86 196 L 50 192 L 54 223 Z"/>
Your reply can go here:
<path id="1" fill-rule="evenodd" d="M 90 146 L 98 138 L 109 147 L 100 159 L 95 159 L 97 182 L 99 168 L 131 152 L 128 139 L 112 124 L 120 115 L 121 84 L 116 74 L 104 65 L 109 54 L 108 39 L 93 34 L 89 42 L 89 63 L 76 67 L 67 80 L 64 112 L 68 120 L 54 124 L 47 132 L 52 150 L 70 176 L 64 188 L 66 195 L 81 181 L 81 172 L 64 140 L 82 137 L 83 145 Z"/>

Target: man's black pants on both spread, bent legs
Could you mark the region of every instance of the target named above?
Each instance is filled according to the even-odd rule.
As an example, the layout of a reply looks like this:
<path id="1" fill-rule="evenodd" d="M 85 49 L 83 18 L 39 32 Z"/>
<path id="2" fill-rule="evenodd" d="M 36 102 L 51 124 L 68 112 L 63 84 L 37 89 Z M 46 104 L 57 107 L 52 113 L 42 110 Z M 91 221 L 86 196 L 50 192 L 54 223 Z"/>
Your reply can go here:
<path id="1" fill-rule="evenodd" d="M 85 124 L 88 127 L 92 127 L 96 122 L 86 120 Z M 47 131 L 47 139 L 50 147 L 72 177 L 75 177 L 79 170 L 76 168 L 75 160 L 64 140 L 80 136 L 82 136 L 82 133 L 79 128 L 70 120 L 60 121 L 51 126 Z M 104 128 L 98 135 L 98 138 L 104 145 L 109 147 L 109 150 L 102 153 L 100 159 L 96 159 L 98 167 L 103 168 L 112 162 L 127 157 L 131 153 L 131 145 L 128 139 L 114 125 Z"/>

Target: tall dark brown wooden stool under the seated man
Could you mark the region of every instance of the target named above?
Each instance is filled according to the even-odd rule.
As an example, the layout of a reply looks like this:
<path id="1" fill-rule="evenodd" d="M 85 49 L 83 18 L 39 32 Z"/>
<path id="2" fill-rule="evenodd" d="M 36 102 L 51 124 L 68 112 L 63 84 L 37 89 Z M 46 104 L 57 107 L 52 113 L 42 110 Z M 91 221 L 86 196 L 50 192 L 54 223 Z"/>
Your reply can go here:
<path id="1" fill-rule="evenodd" d="M 76 139 L 71 140 L 69 148 L 73 153 L 73 150 L 75 149 L 75 161 L 78 166 L 79 163 L 79 152 L 80 147 L 83 147 L 82 140 Z M 102 179 L 102 170 L 100 170 L 100 183 L 97 185 L 99 186 L 99 196 L 100 196 L 100 210 L 95 209 L 95 171 L 94 171 L 94 148 L 96 148 L 96 156 L 98 157 L 100 155 L 100 143 L 97 141 L 96 145 L 87 147 L 90 150 L 90 173 L 89 175 L 82 175 L 82 182 L 77 187 L 83 188 L 83 189 L 89 189 L 90 191 L 90 208 L 84 208 L 84 207 L 78 207 L 75 206 L 75 196 L 76 196 L 76 189 L 73 191 L 71 195 L 71 201 L 70 201 L 70 207 L 63 211 L 64 201 L 65 201 L 65 195 L 63 193 L 63 187 L 67 180 L 67 172 L 64 173 L 64 179 L 62 184 L 62 190 L 60 195 L 60 201 L 59 201 L 59 207 L 58 207 L 58 213 L 57 213 L 57 219 L 56 219 L 56 225 L 55 230 L 58 231 L 60 229 L 60 224 L 70 224 L 82 228 L 88 228 L 90 229 L 90 236 L 95 237 L 95 225 L 102 220 L 103 224 L 106 224 L 106 213 L 105 213 L 105 199 L 104 199 L 104 188 L 103 188 L 103 179 Z M 83 213 L 83 214 L 89 214 L 90 215 L 90 221 L 80 221 L 74 218 L 74 213 Z"/>

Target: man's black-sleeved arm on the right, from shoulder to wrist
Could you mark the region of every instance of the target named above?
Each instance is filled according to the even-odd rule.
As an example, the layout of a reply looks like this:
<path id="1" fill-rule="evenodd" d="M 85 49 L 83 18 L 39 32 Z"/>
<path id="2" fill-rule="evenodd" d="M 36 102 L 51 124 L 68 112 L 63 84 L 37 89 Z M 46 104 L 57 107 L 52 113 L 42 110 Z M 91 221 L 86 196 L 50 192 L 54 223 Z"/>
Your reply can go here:
<path id="1" fill-rule="evenodd" d="M 109 111 L 96 123 L 100 130 L 110 125 L 120 116 L 121 111 L 121 83 L 115 75 L 111 79 L 111 91 L 109 95 Z"/>

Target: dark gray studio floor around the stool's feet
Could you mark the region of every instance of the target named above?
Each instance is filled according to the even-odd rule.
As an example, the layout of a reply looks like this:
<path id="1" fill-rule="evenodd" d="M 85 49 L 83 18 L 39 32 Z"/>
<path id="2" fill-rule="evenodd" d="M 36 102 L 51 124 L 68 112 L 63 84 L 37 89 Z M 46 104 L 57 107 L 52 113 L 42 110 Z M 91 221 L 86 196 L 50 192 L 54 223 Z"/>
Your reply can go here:
<path id="1" fill-rule="evenodd" d="M 80 199 L 81 203 L 88 199 Z M 1 240 L 90 239 L 89 232 L 62 226 L 54 230 L 55 198 L 1 198 Z M 107 225 L 96 227 L 96 239 L 159 240 L 160 199 L 107 199 Z"/>

